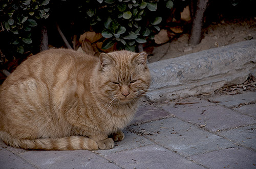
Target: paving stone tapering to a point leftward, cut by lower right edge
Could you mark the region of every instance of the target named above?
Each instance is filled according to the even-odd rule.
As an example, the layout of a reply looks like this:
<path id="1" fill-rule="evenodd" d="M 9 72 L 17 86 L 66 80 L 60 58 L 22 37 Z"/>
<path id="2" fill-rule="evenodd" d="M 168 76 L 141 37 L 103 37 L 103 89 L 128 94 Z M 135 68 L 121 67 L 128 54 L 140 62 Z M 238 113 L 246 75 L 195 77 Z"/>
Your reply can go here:
<path id="1" fill-rule="evenodd" d="M 220 131 L 218 134 L 256 150 L 256 125 Z"/>

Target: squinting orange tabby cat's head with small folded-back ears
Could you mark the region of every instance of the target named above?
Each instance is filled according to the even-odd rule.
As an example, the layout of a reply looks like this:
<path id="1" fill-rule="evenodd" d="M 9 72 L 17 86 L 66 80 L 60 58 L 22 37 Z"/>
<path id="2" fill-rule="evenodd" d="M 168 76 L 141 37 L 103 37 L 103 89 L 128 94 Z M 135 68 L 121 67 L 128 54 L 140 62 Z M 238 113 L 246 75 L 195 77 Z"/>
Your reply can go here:
<path id="1" fill-rule="evenodd" d="M 102 100 L 123 104 L 146 94 L 151 75 L 146 65 L 147 54 L 118 51 L 100 55 L 97 67 L 97 92 Z"/>

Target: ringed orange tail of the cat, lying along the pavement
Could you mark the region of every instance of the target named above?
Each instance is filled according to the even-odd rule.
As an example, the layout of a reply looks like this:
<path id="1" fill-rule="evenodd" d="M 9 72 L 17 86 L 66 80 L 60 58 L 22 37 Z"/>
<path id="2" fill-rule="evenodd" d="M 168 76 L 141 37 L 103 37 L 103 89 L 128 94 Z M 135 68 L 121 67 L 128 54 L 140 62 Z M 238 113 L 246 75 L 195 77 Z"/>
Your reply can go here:
<path id="1" fill-rule="evenodd" d="M 98 150 L 98 144 L 91 138 L 69 136 L 63 138 L 18 139 L 0 131 L 0 138 L 8 146 L 37 150 Z"/>

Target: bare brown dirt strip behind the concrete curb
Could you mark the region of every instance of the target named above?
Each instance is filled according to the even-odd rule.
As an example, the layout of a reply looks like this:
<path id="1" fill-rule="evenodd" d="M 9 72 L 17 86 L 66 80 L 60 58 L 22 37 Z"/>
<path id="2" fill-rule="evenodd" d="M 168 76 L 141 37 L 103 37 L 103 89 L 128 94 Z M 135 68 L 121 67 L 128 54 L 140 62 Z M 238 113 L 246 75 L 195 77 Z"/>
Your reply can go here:
<path id="1" fill-rule="evenodd" d="M 188 45 L 189 34 L 181 34 L 165 44 L 154 47 L 148 62 L 175 58 L 250 39 L 256 39 L 256 17 L 220 19 L 203 27 L 202 40 L 198 45 Z"/>

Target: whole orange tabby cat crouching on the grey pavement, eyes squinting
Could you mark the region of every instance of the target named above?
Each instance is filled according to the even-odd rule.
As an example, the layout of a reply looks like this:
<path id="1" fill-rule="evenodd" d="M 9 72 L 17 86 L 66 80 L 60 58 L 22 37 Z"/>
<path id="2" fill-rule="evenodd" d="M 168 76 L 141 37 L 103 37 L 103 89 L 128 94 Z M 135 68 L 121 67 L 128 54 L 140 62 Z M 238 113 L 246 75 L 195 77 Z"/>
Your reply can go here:
<path id="1" fill-rule="evenodd" d="M 29 57 L 0 88 L 0 138 L 24 149 L 113 148 L 150 86 L 146 58 L 65 49 Z"/>

